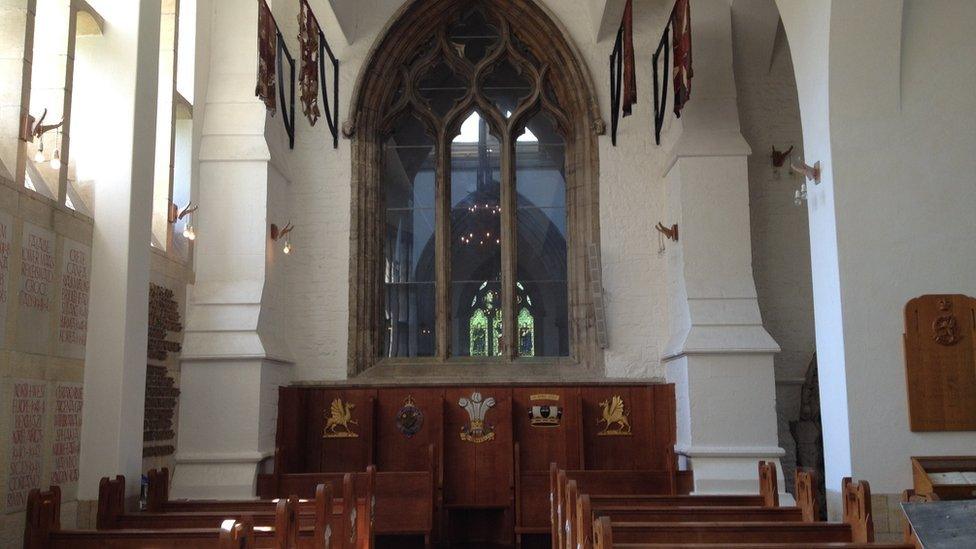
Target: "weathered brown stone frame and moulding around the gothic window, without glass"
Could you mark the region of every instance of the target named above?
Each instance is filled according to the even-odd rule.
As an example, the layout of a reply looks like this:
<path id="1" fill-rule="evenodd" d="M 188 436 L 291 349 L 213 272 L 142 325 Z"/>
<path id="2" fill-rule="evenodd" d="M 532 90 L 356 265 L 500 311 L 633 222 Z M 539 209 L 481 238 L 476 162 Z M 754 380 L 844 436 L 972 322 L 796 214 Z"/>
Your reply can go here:
<path id="1" fill-rule="evenodd" d="M 479 6 L 485 13 L 503 22 L 505 28 L 502 34 L 506 39 L 508 33 L 517 35 L 518 41 L 524 44 L 539 64 L 538 70 L 527 70 L 530 78 L 538 78 L 540 82 L 546 79 L 543 84 L 551 90 L 551 96 L 547 93 L 536 94 L 537 97 L 530 100 L 531 105 L 520 107 L 513 113 L 503 133 L 514 134 L 518 131 L 519 123 L 535 112 L 546 110 L 556 115 L 560 130 L 565 134 L 570 356 L 548 360 L 554 363 L 549 371 L 565 375 L 571 369 L 581 375 L 603 376 L 603 351 L 597 338 L 594 294 L 591 291 L 591 283 L 599 282 L 599 278 L 594 278 L 599 277 L 599 273 L 591 273 L 587 268 L 587 259 L 589 253 L 594 253 L 591 245 L 596 246 L 595 253 L 599 253 L 598 136 L 604 133 L 605 125 L 585 63 L 561 25 L 533 0 L 409 1 L 378 36 L 360 70 L 350 117 L 343 125 L 343 133 L 352 140 L 348 373 L 355 376 L 377 363 L 406 361 L 431 365 L 448 361 L 448 336 L 443 329 L 437 334 L 435 357 L 409 360 L 381 358 L 385 231 L 385 217 L 382 215 L 383 142 L 389 124 L 397 118 L 404 103 L 398 95 L 399 83 L 412 66 L 424 63 L 418 52 L 425 45 L 434 49 L 447 47 L 443 33 L 438 33 L 437 29 L 457 19 L 472 6 Z M 430 46 L 432 40 L 435 44 Z M 510 44 L 507 46 L 509 50 L 512 49 Z M 487 74 L 492 66 L 506 58 L 495 53 L 486 55 L 468 70 L 475 75 Z M 514 52 L 510 54 L 509 57 L 516 55 Z M 479 109 L 472 95 L 469 90 L 455 109 Z M 397 97 L 400 99 L 396 100 Z M 429 107 L 426 110 L 429 111 Z M 418 112 L 416 102 L 413 112 L 428 122 L 436 118 L 431 112 Z M 504 121 L 498 122 L 504 124 Z M 445 143 L 447 132 L 458 123 L 456 117 L 453 123 L 432 123 L 438 134 L 434 136 L 437 142 Z M 439 189 L 445 188 L 443 178 L 443 175 L 438 175 Z M 436 246 L 443 251 L 445 247 L 450 248 L 447 242 L 450 237 L 449 233 L 444 235 L 446 229 L 442 225 L 446 224 L 438 225 Z M 448 293 L 438 289 L 437 295 L 438 309 L 446 308 Z M 510 364 L 514 360 L 517 359 L 492 362 L 492 365 Z M 538 362 L 547 361 L 533 361 Z"/>

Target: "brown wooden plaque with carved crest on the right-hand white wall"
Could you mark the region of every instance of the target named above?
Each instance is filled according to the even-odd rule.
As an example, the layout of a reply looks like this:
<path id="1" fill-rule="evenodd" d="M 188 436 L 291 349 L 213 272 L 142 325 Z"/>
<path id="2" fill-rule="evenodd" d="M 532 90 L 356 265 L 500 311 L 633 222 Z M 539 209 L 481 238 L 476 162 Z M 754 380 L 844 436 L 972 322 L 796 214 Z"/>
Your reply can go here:
<path id="1" fill-rule="evenodd" d="M 912 431 L 976 430 L 976 299 L 925 295 L 905 306 Z"/>

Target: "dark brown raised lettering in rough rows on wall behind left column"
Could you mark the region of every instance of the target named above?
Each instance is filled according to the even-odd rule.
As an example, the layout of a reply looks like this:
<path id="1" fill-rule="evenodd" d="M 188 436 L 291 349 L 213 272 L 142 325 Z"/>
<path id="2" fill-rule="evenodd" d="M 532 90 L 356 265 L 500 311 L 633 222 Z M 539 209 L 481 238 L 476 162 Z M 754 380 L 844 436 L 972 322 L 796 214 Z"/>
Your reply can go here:
<path id="1" fill-rule="evenodd" d="M 180 306 L 173 291 L 158 284 L 150 284 L 147 358 L 150 361 L 165 362 L 171 353 L 179 353 L 180 343 L 171 338 L 172 334 L 182 331 Z M 179 395 L 176 381 L 165 365 L 147 365 L 143 457 L 169 456 L 176 451 L 173 444 L 160 443 L 176 438 L 173 420 Z"/>

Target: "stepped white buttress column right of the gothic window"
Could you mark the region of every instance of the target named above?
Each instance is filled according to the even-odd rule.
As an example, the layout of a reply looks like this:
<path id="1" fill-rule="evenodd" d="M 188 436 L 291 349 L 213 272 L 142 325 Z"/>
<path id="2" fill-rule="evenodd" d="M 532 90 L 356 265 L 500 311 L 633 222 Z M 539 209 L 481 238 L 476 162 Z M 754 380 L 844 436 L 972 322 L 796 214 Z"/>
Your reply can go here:
<path id="1" fill-rule="evenodd" d="M 755 493 L 757 463 L 779 465 L 773 355 L 752 275 L 748 144 L 739 132 L 731 10 L 695 0 L 695 78 L 665 175 L 671 337 L 664 360 L 678 400 L 676 452 L 696 493 Z M 669 82 L 670 85 L 670 82 Z M 790 501 L 779 467 L 781 498 Z"/>

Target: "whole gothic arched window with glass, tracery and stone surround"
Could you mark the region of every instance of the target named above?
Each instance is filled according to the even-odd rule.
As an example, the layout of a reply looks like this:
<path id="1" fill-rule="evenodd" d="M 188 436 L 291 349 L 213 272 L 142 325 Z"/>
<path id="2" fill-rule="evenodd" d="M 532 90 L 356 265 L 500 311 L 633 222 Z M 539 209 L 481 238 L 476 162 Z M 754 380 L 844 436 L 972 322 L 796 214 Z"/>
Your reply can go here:
<path id="1" fill-rule="evenodd" d="M 601 367 L 587 286 L 600 123 L 558 27 L 532 2 L 415 1 L 363 74 L 350 370 Z"/>

